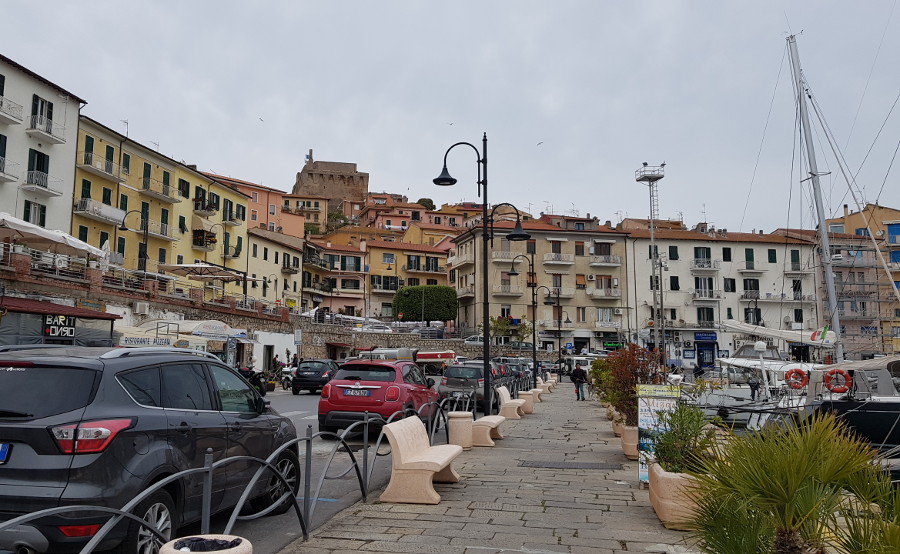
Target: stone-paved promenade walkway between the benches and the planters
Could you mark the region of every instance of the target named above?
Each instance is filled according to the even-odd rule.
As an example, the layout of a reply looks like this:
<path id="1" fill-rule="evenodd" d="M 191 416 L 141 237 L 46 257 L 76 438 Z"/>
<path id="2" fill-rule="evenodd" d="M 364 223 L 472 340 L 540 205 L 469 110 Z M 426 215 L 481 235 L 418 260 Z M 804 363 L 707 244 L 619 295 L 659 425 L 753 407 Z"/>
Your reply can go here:
<path id="1" fill-rule="evenodd" d="M 456 458 L 462 478 L 435 484 L 440 504 L 381 504 L 375 491 L 279 554 L 688 552 L 687 535 L 657 519 L 600 404 L 576 402 L 568 382 L 543 399 L 501 426 L 497 446 Z"/>

